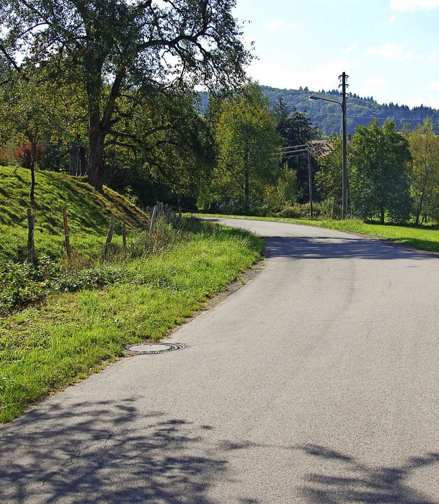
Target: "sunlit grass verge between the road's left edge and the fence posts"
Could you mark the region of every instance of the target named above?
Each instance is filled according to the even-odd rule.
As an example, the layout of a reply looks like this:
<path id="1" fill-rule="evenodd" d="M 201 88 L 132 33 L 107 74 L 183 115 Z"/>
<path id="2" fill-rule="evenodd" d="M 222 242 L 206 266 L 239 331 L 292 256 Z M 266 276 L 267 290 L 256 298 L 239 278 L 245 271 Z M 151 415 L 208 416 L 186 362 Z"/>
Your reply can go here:
<path id="1" fill-rule="evenodd" d="M 123 354 L 161 339 L 261 257 L 263 242 L 238 229 L 194 222 L 163 255 L 115 265 L 102 290 L 57 293 L 0 319 L 0 422 Z"/>

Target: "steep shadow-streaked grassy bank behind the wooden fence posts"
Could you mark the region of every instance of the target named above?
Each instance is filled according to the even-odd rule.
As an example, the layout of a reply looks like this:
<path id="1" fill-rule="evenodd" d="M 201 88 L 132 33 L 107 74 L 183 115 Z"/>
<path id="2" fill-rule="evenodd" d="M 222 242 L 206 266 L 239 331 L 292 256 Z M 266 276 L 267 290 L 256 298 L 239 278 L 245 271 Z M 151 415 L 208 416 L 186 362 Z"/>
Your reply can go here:
<path id="1" fill-rule="evenodd" d="M 0 166 L 0 264 L 23 261 L 27 257 L 27 208 L 30 171 Z M 93 256 L 104 246 L 110 215 L 115 214 L 115 240 L 120 240 L 123 214 L 128 231 L 145 228 L 149 216 L 126 198 L 104 187 L 100 194 L 76 178 L 55 172 L 36 172 L 36 254 L 64 257 L 62 208 L 67 206 L 73 252 Z"/>

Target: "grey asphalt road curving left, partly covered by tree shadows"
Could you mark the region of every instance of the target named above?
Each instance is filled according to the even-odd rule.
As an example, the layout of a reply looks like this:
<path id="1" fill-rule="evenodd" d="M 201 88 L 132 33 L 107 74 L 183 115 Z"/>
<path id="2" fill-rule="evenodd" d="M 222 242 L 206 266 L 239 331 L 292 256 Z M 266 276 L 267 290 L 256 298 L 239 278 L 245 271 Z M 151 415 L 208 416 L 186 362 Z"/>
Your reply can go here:
<path id="1" fill-rule="evenodd" d="M 1 502 L 439 503 L 438 257 L 233 225 L 261 275 L 0 428 Z"/>

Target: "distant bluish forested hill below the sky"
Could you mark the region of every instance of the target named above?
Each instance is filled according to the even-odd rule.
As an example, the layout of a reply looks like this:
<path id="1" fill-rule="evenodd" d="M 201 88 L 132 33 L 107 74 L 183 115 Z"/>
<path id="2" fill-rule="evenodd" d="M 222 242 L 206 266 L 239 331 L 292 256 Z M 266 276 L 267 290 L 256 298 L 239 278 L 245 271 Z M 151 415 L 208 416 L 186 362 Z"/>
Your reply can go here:
<path id="1" fill-rule="evenodd" d="M 340 100 L 340 91 L 310 91 L 307 87 L 300 89 L 277 89 L 274 87 L 261 86 L 263 93 L 273 105 L 278 98 L 283 98 L 290 107 L 296 107 L 299 112 L 307 111 L 313 126 L 322 130 L 323 135 L 339 135 L 342 122 L 342 108 L 337 104 L 324 102 L 324 100 L 311 101 L 309 95 L 322 96 L 329 100 Z M 410 124 L 410 128 L 416 128 L 430 117 L 435 124 L 439 122 L 439 111 L 427 106 L 410 108 L 407 105 L 378 104 L 373 98 L 361 98 L 356 94 L 349 93 L 346 108 L 346 124 L 348 134 L 355 132 L 357 126 L 367 126 L 372 119 L 377 117 L 380 122 L 391 119 L 396 122 L 399 129 L 404 123 Z"/>

